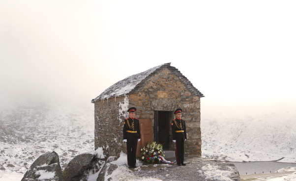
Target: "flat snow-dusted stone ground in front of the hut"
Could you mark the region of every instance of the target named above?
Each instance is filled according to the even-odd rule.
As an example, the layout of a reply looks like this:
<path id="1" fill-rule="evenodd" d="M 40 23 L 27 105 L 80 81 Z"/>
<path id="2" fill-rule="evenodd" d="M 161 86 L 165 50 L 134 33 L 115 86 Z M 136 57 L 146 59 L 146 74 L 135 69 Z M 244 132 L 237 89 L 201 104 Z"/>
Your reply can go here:
<path id="1" fill-rule="evenodd" d="M 139 177 L 152 177 L 162 181 L 240 181 L 234 164 L 202 157 L 185 157 L 184 162 L 186 166 L 178 166 L 175 162 L 143 165 L 132 170 Z"/>

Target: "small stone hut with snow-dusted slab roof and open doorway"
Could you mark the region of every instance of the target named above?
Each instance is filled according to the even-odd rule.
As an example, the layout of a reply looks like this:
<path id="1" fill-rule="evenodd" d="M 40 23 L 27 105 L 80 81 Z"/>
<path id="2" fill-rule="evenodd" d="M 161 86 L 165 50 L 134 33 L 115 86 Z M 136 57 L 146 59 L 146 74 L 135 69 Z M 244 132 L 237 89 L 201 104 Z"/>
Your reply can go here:
<path id="1" fill-rule="evenodd" d="M 171 63 L 124 78 L 91 100 L 94 103 L 95 149 L 102 147 L 108 156 L 126 153 L 122 127 L 128 117 L 127 109 L 136 107 L 141 129 L 138 153 L 147 141 L 161 143 L 164 150 L 175 150 L 171 122 L 175 119 L 174 111 L 182 108 L 187 131 L 184 154 L 201 156 L 202 97 L 204 95 Z"/>

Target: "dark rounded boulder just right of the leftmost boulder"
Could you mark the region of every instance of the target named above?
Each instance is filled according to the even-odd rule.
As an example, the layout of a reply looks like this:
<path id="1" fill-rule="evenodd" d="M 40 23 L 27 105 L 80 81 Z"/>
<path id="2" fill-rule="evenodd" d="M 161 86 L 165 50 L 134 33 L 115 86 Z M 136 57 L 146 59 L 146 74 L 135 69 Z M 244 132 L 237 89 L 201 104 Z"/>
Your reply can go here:
<path id="1" fill-rule="evenodd" d="M 93 154 L 81 154 L 75 156 L 67 165 L 62 173 L 63 181 L 83 180 L 87 173 L 92 169 L 92 162 L 95 159 Z"/>

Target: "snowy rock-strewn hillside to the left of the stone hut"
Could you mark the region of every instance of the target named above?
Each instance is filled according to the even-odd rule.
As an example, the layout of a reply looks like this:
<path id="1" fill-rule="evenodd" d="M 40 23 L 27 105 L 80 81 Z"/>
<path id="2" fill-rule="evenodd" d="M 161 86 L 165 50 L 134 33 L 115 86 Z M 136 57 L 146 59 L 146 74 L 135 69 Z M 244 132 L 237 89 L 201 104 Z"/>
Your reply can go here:
<path id="1" fill-rule="evenodd" d="M 24 173 L 38 156 L 52 151 L 64 168 L 75 155 L 92 152 L 93 109 L 85 105 L 38 99 L 2 108 L 0 169 Z"/>

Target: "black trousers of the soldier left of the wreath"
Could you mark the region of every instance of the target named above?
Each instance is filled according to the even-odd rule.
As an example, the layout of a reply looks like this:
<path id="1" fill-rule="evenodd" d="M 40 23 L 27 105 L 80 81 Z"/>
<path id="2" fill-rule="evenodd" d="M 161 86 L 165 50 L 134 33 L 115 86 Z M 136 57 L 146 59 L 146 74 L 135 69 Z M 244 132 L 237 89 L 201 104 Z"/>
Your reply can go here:
<path id="1" fill-rule="evenodd" d="M 127 152 L 127 164 L 128 166 L 136 166 L 136 152 L 138 146 L 138 138 L 135 133 L 126 133 L 126 152 Z"/>

